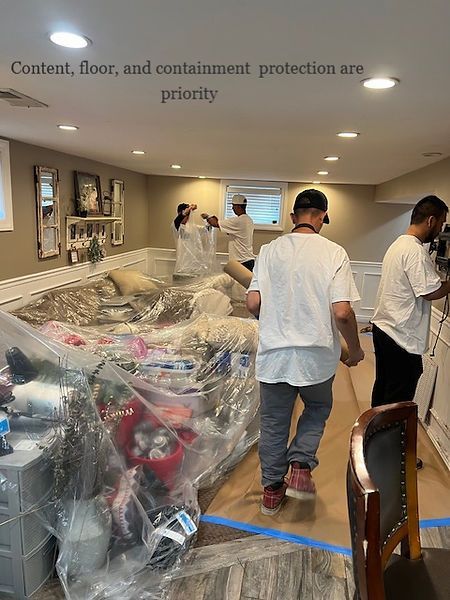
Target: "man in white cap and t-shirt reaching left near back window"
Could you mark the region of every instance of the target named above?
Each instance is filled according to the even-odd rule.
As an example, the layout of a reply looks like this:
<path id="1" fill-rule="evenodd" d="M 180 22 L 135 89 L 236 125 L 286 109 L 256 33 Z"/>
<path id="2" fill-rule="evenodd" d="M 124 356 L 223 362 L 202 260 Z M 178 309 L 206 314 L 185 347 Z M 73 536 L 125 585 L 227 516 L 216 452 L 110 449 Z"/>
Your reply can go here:
<path id="1" fill-rule="evenodd" d="M 242 194 L 235 194 L 231 199 L 235 217 L 224 219 L 219 223 L 215 216 L 209 216 L 206 213 L 202 217 L 206 219 L 209 225 L 218 227 L 221 231 L 229 235 L 228 254 L 230 260 L 237 260 L 244 267 L 253 271 L 255 264 L 255 255 L 253 254 L 253 230 L 255 228 L 253 220 L 247 214 L 247 198 Z"/>

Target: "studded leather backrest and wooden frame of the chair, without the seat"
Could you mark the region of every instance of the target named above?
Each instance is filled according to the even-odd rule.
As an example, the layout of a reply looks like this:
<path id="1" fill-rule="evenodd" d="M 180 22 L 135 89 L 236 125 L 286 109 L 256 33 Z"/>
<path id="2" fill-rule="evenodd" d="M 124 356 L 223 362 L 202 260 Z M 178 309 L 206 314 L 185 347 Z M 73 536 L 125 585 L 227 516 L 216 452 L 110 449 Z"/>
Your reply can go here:
<path id="1" fill-rule="evenodd" d="M 417 406 L 366 411 L 350 439 L 347 501 L 356 595 L 384 600 L 383 570 L 394 548 L 418 558 Z"/>

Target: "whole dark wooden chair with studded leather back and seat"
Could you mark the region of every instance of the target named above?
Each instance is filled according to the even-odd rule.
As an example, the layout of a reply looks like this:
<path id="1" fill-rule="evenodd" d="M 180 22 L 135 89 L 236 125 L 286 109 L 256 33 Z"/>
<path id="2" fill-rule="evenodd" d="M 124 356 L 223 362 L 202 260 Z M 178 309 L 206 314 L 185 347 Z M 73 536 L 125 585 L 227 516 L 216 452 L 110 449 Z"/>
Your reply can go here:
<path id="1" fill-rule="evenodd" d="M 450 598 L 450 551 L 420 545 L 416 444 L 413 402 L 368 410 L 353 427 L 347 499 L 359 600 Z"/>

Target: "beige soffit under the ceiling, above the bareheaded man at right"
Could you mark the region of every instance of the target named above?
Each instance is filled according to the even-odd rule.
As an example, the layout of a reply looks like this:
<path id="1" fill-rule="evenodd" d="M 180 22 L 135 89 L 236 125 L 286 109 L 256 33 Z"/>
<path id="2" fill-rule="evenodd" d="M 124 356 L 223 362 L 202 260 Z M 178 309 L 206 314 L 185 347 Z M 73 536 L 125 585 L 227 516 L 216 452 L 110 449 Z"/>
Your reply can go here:
<path id="1" fill-rule="evenodd" d="M 395 202 L 411 198 L 415 204 L 428 194 L 435 194 L 450 205 L 450 158 L 378 185 L 375 200 Z"/>

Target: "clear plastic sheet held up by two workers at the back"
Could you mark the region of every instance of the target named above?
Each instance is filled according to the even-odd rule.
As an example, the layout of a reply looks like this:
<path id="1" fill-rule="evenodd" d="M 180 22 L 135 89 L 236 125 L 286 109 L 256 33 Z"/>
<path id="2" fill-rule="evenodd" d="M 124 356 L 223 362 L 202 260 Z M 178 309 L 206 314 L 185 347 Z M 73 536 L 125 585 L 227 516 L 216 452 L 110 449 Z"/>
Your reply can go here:
<path id="1" fill-rule="evenodd" d="M 176 237 L 174 278 L 198 277 L 218 271 L 216 244 L 214 227 L 195 225 L 192 220 L 180 225 Z"/>

